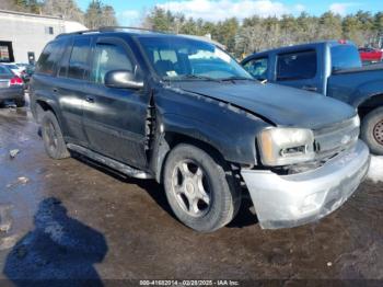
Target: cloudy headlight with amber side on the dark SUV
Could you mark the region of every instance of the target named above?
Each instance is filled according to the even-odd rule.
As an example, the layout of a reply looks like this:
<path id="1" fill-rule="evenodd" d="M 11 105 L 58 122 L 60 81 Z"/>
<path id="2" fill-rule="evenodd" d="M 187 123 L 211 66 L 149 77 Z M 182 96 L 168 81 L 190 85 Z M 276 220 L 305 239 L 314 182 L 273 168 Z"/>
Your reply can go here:
<path id="1" fill-rule="evenodd" d="M 258 136 L 265 165 L 288 165 L 314 159 L 314 134 L 303 128 L 267 128 Z"/>

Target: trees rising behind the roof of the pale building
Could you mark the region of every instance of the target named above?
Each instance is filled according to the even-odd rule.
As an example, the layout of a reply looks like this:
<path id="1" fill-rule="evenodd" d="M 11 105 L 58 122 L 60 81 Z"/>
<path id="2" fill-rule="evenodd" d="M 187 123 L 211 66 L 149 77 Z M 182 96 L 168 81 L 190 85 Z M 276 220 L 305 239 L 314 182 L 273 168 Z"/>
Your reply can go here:
<path id="1" fill-rule="evenodd" d="M 76 0 L 1 0 L 0 9 L 62 16 L 65 20 L 80 22 L 89 28 L 117 25 L 114 8 L 101 0 L 90 1 L 85 11 L 78 7 Z"/>

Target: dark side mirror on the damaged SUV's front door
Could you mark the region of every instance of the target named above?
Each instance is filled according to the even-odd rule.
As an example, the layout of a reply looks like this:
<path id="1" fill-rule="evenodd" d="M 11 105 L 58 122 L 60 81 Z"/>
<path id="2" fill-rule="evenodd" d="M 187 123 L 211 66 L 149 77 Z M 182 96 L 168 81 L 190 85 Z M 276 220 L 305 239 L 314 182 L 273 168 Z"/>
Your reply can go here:
<path id="1" fill-rule="evenodd" d="M 135 73 L 127 70 L 108 71 L 105 74 L 105 85 L 117 89 L 135 89 L 143 88 L 143 81 L 138 81 Z"/>

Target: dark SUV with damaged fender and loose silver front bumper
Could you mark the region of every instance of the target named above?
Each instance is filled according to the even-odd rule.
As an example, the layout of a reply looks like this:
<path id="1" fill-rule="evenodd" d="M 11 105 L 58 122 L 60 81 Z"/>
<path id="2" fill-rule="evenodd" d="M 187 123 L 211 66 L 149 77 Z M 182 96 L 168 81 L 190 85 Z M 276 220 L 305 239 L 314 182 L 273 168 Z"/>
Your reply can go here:
<path id="1" fill-rule="evenodd" d="M 31 107 L 51 158 L 155 179 L 195 230 L 229 223 L 246 191 L 276 229 L 332 213 L 369 169 L 355 108 L 307 93 L 254 80 L 210 43 L 102 28 L 46 46 Z"/>

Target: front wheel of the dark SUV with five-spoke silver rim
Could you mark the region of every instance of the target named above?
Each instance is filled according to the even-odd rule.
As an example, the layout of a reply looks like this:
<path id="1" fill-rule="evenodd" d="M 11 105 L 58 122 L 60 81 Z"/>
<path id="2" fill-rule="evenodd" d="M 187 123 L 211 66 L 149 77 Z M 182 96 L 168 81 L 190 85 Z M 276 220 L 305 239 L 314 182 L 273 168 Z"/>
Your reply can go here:
<path id="1" fill-rule="evenodd" d="M 192 145 L 178 145 L 165 163 L 169 204 L 186 226 L 211 232 L 228 225 L 241 205 L 241 191 L 223 160 Z"/>

